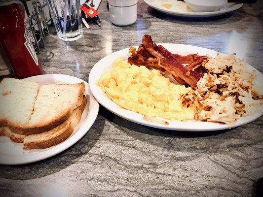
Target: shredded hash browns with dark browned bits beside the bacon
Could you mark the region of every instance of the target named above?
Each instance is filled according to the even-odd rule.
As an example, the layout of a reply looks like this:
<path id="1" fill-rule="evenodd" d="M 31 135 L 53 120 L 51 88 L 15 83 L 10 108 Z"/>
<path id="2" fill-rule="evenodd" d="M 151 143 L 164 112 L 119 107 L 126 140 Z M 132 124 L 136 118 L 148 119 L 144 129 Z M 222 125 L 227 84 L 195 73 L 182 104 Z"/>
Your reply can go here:
<path id="1" fill-rule="evenodd" d="M 263 77 L 256 77 L 256 70 L 248 70 L 234 55 L 221 54 L 202 66 L 207 73 L 195 89 L 182 96 L 184 105 L 195 107 L 196 119 L 233 124 L 237 119 L 263 112 Z"/>

